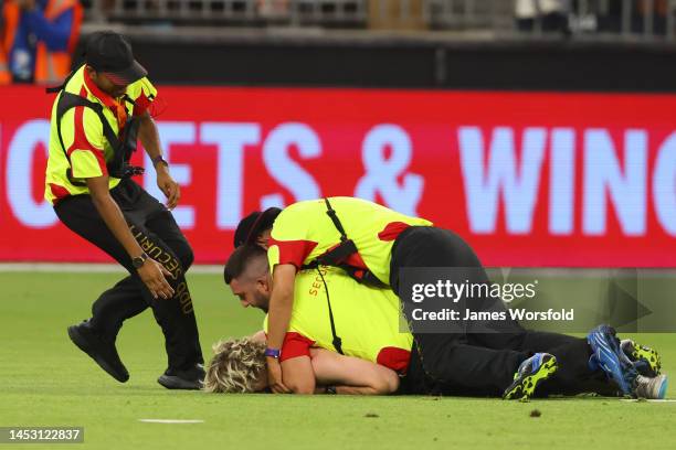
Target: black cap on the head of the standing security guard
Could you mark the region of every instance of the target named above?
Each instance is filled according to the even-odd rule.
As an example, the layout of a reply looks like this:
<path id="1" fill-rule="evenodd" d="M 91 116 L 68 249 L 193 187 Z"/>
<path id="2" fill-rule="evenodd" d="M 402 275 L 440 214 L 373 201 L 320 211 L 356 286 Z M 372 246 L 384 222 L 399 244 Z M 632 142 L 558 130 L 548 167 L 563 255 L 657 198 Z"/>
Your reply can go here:
<path id="1" fill-rule="evenodd" d="M 134 60 L 131 45 L 113 31 L 94 33 L 87 40 L 85 62 L 118 86 L 129 85 L 148 72 Z"/>

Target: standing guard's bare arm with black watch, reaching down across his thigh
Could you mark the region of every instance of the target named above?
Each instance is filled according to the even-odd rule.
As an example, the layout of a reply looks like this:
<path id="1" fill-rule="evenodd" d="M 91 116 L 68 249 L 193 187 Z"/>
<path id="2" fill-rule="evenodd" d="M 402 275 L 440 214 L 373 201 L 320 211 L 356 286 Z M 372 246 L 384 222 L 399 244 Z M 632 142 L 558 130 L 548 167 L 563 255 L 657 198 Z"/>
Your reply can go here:
<path id="1" fill-rule="evenodd" d="M 89 189 L 89 195 L 94 206 L 96 206 L 96 211 L 98 211 L 106 226 L 122 244 L 129 257 L 135 258 L 142 255 L 142 248 L 131 235 L 125 216 L 110 196 L 108 176 L 103 175 L 87 179 L 87 188 Z M 146 264 L 138 269 L 138 275 L 156 299 L 158 296 L 165 299 L 173 297 L 173 289 L 165 278 L 165 275 L 171 276 L 171 274 L 159 262 L 148 258 Z"/>

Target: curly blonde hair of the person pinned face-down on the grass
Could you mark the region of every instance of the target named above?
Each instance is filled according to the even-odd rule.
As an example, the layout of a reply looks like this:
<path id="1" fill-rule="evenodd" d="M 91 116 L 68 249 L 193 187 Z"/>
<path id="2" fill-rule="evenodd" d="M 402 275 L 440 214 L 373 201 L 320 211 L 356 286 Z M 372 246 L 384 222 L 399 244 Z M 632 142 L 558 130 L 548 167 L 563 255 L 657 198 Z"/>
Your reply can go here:
<path id="1" fill-rule="evenodd" d="M 265 373 L 265 344 L 251 338 L 229 339 L 213 344 L 204 392 L 254 393 Z"/>

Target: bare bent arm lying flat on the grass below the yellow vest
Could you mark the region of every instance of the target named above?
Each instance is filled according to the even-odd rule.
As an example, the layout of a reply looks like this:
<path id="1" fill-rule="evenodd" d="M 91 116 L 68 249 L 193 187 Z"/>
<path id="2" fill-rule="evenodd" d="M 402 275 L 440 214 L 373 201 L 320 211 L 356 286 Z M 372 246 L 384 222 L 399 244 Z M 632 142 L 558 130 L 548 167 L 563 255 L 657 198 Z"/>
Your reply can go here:
<path id="1" fill-rule="evenodd" d="M 316 383 L 334 385 L 338 394 L 387 395 L 399 388 L 399 376 L 388 367 L 324 349 L 310 355 Z"/>

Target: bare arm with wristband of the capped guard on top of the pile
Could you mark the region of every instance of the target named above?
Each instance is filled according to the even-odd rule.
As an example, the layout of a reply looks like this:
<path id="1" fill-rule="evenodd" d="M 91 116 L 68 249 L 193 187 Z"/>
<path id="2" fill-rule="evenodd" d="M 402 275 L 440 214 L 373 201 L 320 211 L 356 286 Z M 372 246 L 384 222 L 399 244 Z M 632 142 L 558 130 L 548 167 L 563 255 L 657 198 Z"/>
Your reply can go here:
<path id="1" fill-rule="evenodd" d="M 282 349 L 284 336 L 288 330 L 294 306 L 294 282 L 296 267 L 291 264 L 277 265 L 273 271 L 273 288 L 267 311 L 267 346 Z M 274 357 L 267 357 L 267 379 L 274 393 L 288 393 L 288 386 L 283 382 L 282 367 Z"/>

